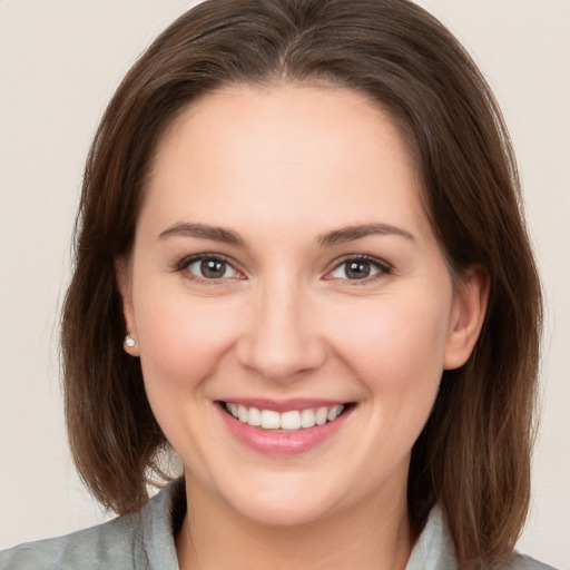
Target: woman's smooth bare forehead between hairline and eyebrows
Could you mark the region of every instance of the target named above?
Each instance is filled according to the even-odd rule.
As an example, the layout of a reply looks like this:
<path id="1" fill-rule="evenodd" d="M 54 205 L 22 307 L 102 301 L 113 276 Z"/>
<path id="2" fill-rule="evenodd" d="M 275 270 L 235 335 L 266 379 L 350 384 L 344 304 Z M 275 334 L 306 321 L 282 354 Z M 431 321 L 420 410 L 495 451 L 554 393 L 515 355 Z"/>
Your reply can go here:
<path id="1" fill-rule="evenodd" d="M 360 224 L 379 216 L 423 223 L 420 187 L 395 122 L 364 95 L 232 86 L 189 106 L 167 129 L 142 217 L 207 216 L 208 223 L 266 223 L 267 229 L 278 220 L 315 230 L 321 222 Z"/>

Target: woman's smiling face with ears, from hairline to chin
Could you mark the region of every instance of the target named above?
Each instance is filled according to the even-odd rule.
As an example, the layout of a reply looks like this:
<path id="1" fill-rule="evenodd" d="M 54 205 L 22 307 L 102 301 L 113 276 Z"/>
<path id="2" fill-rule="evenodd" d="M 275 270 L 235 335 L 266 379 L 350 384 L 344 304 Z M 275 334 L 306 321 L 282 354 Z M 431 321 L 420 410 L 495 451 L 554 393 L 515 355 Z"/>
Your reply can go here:
<path id="1" fill-rule="evenodd" d="M 126 350 L 212 504 L 271 524 L 405 505 L 484 305 L 475 272 L 453 287 L 420 191 L 351 90 L 226 88 L 166 132 L 119 269 Z"/>

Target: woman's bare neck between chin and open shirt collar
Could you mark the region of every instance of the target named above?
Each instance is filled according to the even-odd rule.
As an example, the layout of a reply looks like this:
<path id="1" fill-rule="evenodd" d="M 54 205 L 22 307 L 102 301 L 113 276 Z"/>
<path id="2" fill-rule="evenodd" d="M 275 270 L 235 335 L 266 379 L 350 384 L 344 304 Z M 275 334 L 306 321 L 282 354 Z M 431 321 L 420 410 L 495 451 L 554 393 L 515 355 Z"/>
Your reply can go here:
<path id="1" fill-rule="evenodd" d="M 180 570 L 404 570 L 412 538 L 402 491 L 302 525 L 265 525 L 187 476 L 188 512 L 176 544 Z"/>

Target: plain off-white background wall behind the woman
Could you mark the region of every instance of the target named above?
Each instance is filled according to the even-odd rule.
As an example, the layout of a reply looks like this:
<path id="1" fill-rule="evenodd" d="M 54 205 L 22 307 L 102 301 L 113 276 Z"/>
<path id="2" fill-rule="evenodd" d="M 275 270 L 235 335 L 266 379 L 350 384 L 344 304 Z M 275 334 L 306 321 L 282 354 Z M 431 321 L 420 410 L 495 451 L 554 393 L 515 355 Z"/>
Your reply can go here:
<path id="1" fill-rule="evenodd" d="M 0 548 L 104 520 L 63 429 L 58 311 L 90 139 L 181 0 L 0 0 Z M 542 422 L 519 548 L 570 569 L 570 1 L 426 0 L 469 48 L 518 154 L 548 321 Z M 89 326 L 89 323 L 86 323 Z"/>

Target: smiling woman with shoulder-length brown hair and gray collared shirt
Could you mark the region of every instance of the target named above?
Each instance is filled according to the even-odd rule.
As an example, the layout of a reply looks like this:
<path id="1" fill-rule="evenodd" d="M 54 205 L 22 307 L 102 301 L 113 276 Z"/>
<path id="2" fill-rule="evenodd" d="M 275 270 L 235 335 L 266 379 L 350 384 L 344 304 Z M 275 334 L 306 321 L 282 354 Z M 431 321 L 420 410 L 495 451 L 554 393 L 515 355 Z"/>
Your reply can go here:
<path id="1" fill-rule="evenodd" d="M 439 22 L 204 2 L 86 169 L 67 419 L 122 518 L 2 568 L 541 568 L 512 554 L 540 315 L 507 130 Z"/>

